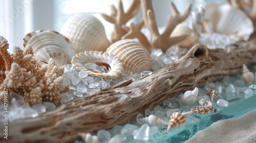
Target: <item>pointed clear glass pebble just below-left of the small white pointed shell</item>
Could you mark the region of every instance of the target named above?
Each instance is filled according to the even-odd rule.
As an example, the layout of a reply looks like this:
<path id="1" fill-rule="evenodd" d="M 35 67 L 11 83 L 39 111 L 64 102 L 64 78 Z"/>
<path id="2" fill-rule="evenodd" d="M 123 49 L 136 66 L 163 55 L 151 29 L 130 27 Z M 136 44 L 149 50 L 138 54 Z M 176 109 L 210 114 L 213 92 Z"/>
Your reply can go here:
<path id="1" fill-rule="evenodd" d="M 146 141 L 150 139 L 150 126 L 147 124 L 143 124 L 137 132 L 134 132 L 133 138 L 137 140 Z"/>

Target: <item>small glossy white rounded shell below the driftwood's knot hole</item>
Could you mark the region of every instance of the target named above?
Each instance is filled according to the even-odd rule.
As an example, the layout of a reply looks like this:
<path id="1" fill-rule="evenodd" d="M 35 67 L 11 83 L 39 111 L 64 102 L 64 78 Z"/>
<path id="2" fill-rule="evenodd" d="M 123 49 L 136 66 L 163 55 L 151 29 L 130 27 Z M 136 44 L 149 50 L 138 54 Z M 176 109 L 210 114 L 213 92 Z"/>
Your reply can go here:
<path id="1" fill-rule="evenodd" d="M 180 102 L 187 105 L 193 105 L 197 101 L 198 88 L 195 87 L 193 91 L 186 91 L 181 97 Z"/>

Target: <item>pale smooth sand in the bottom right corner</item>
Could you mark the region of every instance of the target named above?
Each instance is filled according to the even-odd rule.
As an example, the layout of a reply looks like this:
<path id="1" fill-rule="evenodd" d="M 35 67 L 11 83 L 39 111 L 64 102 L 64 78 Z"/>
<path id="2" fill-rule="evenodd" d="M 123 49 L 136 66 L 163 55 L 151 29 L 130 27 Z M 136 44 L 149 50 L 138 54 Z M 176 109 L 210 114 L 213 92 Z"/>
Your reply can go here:
<path id="1" fill-rule="evenodd" d="M 218 121 L 197 132 L 188 142 L 256 142 L 256 109 L 237 119 Z"/>

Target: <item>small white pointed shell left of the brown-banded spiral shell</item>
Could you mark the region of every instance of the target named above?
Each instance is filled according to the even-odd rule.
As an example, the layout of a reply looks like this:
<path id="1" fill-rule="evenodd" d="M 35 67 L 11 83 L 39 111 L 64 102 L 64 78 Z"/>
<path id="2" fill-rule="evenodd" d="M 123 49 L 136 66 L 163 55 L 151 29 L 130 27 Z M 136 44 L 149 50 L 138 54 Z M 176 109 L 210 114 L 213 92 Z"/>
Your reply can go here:
<path id="1" fill-rule="evenodd" d="M 165 126 L 168 125 L 167 122 L 161 120 L 160 118 L 156 117 L 155 115 L 149 115 L 148 117 L 140 118 L 140 123 L 147 123 L 150 126 Z"/>

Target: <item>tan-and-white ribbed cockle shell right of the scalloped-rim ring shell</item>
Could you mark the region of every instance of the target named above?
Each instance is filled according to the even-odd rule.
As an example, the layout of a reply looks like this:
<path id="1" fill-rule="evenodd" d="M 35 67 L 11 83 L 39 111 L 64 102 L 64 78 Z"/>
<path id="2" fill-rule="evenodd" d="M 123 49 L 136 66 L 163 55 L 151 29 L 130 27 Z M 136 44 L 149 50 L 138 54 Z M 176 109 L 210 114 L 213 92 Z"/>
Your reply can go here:
<path id="1" fill-rule="evenodd" d="M 153 65 L 150 53 L 133 39 L 116 41 L 106 49 L 106 53 L 119 57 L 125 71 L 141 73 L 141 71 L 151 70 Z"/>

